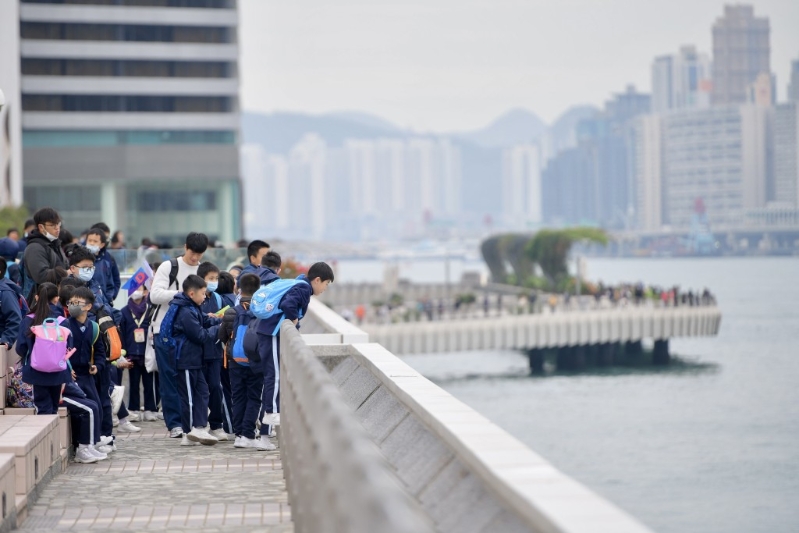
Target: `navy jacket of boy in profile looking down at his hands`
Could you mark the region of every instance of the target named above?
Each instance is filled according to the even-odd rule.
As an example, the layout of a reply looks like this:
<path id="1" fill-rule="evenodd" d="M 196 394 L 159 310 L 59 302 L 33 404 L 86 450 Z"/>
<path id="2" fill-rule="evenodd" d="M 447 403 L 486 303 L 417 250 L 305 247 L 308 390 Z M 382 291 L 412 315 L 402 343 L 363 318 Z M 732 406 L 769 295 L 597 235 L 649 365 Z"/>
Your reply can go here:
<path id="1" fill-rule="evenodd" d="M 179 292 L 170 306 L 178 306 L 172 323 L 172 336 L 175 338 L 175 358 L 178 370 L 195 370 L 203 367 L 203 361 L 213 359 L 214 353 L 205 351 L 216 342 L 219 333 L 219 319 L 203 314 L 200 306 L 186 294 Z"/>

